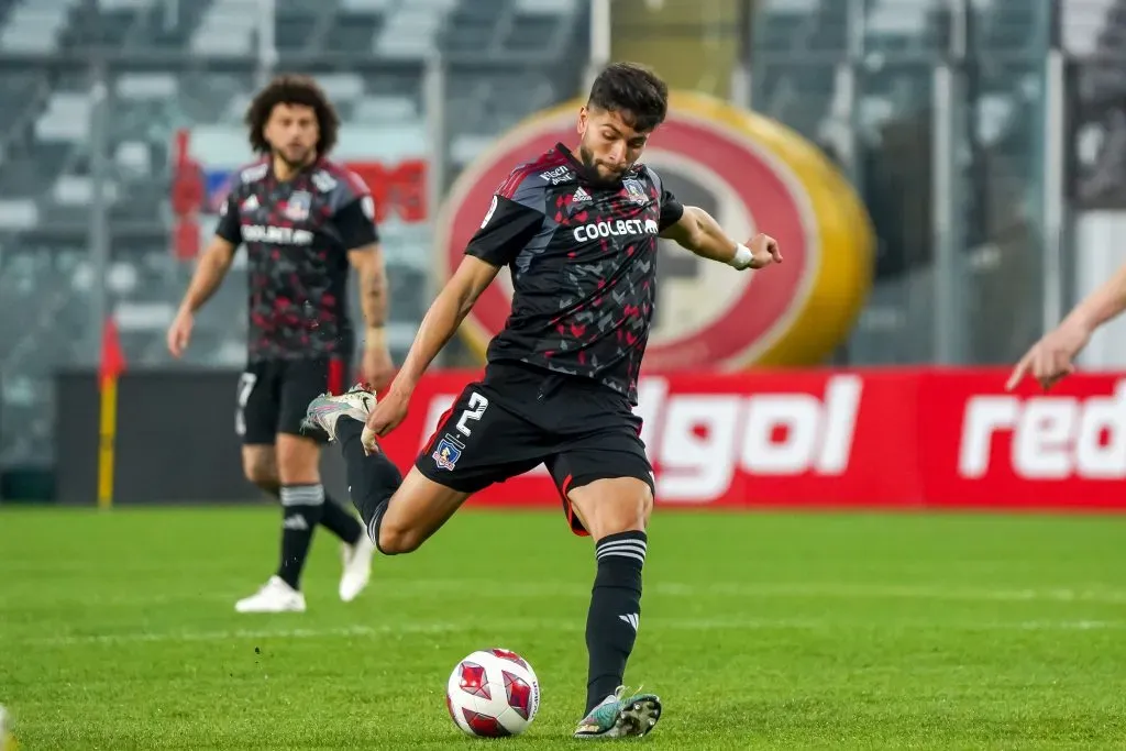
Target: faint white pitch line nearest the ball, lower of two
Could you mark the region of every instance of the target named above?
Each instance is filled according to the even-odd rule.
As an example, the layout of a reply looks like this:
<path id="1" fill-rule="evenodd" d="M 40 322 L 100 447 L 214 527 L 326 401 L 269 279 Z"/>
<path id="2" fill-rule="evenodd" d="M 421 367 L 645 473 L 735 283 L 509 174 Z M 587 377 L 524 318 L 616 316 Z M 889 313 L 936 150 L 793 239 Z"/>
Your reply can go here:
<path id="1" fill-rule="evenodd" d="M 301 638 L 375 638 L 400 634 L 443 634 L 472 633 L 482 629 L 495 631 L 499 634 L 512 633 L 568 633 L 581 632 L 584 624 L 561 623 L 558 620 L 503 620 L 495 624 L 467 625 L 450 623 L 404 623 L 382 626 L 342 626 L 337 628 L 279 628 L 279 629 L 243 629 L 200 631 L 200 632 L 135 632 L 123 634 L 74 634 L 56 636 L 37 636 L 32 638 L 12 638 L 12 643 L 27 646 L 82 646 L 91 644 L 133 644 L 144 642 L 226 642 L 234 640 L 301 640 Z M 642 619 L 642 627 L 655 631 L 848 631 L 848 629 L 901 629 L 918 628 L 927 631 L 1031 631 L 1031 632 L 1085 632 L 1085 631 L 1119 631 L 1126 629 L 1126 622 L 1120 620 L 1020 620 L 1020 622 L 887 622 L 887 623 L 844 623 L 821 619 L 685 619 L 685 618 L 650 618 Z"/>

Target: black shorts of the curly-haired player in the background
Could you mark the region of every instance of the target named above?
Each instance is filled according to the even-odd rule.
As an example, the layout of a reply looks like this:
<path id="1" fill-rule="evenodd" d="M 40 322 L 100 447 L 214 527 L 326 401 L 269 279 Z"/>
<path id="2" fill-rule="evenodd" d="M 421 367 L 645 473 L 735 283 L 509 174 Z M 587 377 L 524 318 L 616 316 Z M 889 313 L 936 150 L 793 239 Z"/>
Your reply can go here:
<path id="1" fill-rule="evenodd" d="M 278 433 L 302 436 L 309 403 L 345 388 L 348 361 L 341 357 L 258 360 L 239 378 L 234 430 L 244 445 L 274 444 Z"/>

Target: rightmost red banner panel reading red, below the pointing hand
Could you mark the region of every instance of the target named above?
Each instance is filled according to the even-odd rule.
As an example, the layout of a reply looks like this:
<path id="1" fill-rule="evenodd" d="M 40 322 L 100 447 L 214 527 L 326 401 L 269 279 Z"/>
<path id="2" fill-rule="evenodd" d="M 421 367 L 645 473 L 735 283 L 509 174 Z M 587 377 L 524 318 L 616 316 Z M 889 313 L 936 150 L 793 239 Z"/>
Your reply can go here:
<path id="1" fill-rule="evenodd" d="M 932 504 L 1126 509 L 1126 375 L 1073 376 L 1045 394 L 1002 374 L 922 377 L 920 474 Z"/>

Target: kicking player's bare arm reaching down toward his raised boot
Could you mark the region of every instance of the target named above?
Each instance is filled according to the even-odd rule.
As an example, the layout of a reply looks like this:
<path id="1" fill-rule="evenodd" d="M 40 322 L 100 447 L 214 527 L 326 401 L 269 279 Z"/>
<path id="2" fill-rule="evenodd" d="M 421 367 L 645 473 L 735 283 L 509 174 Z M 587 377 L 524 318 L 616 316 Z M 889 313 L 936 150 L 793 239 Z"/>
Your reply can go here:
<path id="1" fill-rule="evenodd" d="M 500 268 L 474 256 L 462 259 L 461 266 L 453 278 L 446 283 L 441 292 L 422 318 L 419 331 L 414 336 L 403 367 L 391 384 L 387 395 L 379 400 L 364 429 L 364 445 L 372 448 L 376 436 L 384 436 L 393 430 L 406 417 L 406 405 L 414 387 L 430 363 L 446 346 L 457 327 L 473 309 L 481 293 L 497 278 Z"/>

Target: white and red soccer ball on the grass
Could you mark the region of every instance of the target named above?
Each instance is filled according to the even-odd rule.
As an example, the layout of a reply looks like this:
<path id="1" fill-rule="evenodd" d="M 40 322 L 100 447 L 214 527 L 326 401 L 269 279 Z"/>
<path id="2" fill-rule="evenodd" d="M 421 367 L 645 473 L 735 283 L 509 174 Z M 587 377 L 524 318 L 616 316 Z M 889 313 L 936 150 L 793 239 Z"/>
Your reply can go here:
<path id="1" fill-rule="evenodd" d="M 454 724 L 470 735 L 519 735 L 539 709 L 539 681 L 516 652 L 479 650 L 450 673 L 446 707 Z"/>

